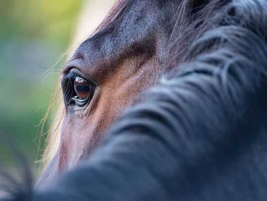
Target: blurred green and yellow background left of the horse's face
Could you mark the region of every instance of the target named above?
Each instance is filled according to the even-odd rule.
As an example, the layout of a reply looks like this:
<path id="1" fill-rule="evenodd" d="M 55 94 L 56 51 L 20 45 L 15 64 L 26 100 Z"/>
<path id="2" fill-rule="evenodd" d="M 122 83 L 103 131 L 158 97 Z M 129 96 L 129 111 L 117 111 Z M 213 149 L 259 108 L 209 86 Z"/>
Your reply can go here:
<path id="1" fill-rule="evenodd" d="M 82 0 L 0 0 L 0 130 L 32 165 L 37 125 L 66 60 L 45 72 L 68 49 L 81 6 Z M 0 162 L 8 164 L 2 144 Z"/>

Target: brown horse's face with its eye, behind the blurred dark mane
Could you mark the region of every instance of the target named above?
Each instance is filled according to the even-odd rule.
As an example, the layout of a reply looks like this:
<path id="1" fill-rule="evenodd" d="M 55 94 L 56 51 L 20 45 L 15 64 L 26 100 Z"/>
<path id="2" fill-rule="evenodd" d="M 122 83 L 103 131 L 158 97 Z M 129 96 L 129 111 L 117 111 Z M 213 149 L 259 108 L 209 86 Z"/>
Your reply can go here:
<path id="1" fill-rule="evenodd" d="M 205 5 L 205 0 L 115 3 L 63 70 L 64 119 L 59 148 L 38 186 L 87 159 L 102 144 L 110 126 L 128 108 L 143 101 L 137 97 L 171 69 L 164 63 L 174 34 L 188 30 L 196 18 L 194 13 Z M 191 29 L 189 35 L 197 34 L 196 30 Z M 180 46 L 186 49 L 191 39 L 184 40 Z"/>

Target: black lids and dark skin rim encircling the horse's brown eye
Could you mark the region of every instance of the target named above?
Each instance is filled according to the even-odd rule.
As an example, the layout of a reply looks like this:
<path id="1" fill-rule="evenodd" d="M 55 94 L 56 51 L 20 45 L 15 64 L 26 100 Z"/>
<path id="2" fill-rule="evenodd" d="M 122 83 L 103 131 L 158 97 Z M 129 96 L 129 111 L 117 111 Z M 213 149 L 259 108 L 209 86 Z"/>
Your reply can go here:
<path id="1" fill-rule="evenodd" d="M 77 81 L 77 78 L 79 78 L 78 81 L 84 80 L 84 82 L 87 83 L 89 86 L 89 95 L 88 97 L 84 99 L 81 99 L 79 95 L 76 93 L 75 81 Z M 84 107 L 90 103 L 93 97 L 95 88 L 96 88 L 96 85 L 94 83 L 92 83 L 88 79 L 85 79 L 83 76 L 77 74 L 76 72 L 69 72 L 67 75 L 65 75 L 62 78 L 61 85 L 62 85 L 62 92 L 63 92 L 63 97 L 64 97 L 66 105 L 67 106 L 76 105 L 78 107 Z M 80 85 L 80 88 L 81 88 L 81 85 Z"/>

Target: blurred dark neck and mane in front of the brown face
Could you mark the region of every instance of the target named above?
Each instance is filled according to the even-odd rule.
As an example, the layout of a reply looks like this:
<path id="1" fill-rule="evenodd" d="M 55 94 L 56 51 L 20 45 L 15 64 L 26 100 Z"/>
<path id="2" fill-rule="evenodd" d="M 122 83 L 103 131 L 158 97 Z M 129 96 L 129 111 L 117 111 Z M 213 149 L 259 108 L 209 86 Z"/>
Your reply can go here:
<path id="1" fill-rule="evenodd" d="M 265 200 L 267 1 L 224 3 L 194 16 L 181 54 L 174 35 L 172 70 L 89 159 L 7 200 Z"/>

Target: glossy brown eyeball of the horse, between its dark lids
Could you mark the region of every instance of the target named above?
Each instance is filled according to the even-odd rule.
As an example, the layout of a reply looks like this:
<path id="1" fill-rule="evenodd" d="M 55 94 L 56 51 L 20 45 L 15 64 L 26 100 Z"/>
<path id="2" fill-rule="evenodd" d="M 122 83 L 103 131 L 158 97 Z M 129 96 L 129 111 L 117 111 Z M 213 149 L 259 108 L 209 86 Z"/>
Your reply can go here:
<path id="1" fill-rule="evenodd" d="M 79 99 L 86 99 L 90 95 L 90 84 L 81 77 L 75 78 L 74 89 Z"/>

